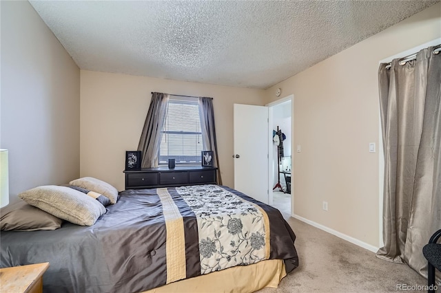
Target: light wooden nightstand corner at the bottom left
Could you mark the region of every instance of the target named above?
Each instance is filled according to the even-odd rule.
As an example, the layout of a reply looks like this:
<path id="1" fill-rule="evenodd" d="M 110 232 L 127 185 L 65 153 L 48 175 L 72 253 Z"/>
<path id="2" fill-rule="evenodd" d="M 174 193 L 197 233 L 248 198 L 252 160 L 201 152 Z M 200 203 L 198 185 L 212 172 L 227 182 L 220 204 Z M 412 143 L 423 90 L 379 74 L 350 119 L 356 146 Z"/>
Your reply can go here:
<path id="1" fill-rule="evenodd" d="M 49 263 L 19 265 L 0 269 L 1 293 L 41 293 L 43 292 L 43 274 Z"/>

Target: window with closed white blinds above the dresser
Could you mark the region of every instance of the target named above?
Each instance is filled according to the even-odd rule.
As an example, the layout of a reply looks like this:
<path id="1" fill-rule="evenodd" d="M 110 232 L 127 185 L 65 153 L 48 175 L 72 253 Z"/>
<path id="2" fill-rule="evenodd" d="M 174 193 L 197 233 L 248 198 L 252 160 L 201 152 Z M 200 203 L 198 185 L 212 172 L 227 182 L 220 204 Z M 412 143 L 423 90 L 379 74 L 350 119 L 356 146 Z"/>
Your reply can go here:
<path id="1" fill-rule="evenodd" d="M 201 119 L 198 100 L 172 100 L 168 102 L 159 148 L 159 164 L 169 158 L 178 164 L 201 164 L 203 151 Z"/>

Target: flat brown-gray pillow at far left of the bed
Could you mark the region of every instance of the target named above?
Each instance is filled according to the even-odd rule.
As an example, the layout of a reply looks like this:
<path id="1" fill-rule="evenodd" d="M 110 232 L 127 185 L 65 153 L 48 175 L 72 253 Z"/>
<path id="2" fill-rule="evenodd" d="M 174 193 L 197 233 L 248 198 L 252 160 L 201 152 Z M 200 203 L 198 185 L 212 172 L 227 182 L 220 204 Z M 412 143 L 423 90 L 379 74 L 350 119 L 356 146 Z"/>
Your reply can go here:
<path id="1" fill-rule="evenodd" d="M 25 202 L 17 202 L 0 211 L 0 230 L 37 231 L 56 230 L 62 219 Z"/>

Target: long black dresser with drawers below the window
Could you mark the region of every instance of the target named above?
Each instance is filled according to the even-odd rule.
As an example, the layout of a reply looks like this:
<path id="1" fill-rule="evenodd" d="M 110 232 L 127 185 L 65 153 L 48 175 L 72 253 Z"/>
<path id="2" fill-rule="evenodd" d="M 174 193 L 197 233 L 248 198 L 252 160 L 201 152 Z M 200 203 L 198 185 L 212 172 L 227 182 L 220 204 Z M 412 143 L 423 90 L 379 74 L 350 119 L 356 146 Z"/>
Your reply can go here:
<path id="1" fill-rule="evenodd" d="M 125 173 L 125 189 L 216 184 L 215 167 L 176 166 L 130 170 Z"/>

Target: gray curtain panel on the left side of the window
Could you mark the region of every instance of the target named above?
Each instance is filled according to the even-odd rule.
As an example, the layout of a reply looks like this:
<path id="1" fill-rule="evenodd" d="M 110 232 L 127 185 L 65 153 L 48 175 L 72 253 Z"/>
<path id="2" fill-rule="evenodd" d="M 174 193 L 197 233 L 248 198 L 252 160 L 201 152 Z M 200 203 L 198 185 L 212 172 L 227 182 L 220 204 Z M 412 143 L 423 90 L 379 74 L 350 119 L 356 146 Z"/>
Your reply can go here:
<path id="1" fill-rule="evenodd" d="M 138 144 L 138 151 L 141 151 L 143 157 L 142 168 L 156 168 L 158 166 L 161 131 L 167 113 L 169 97 L 168 94 L 152 93 L 149 111 Z"/>

